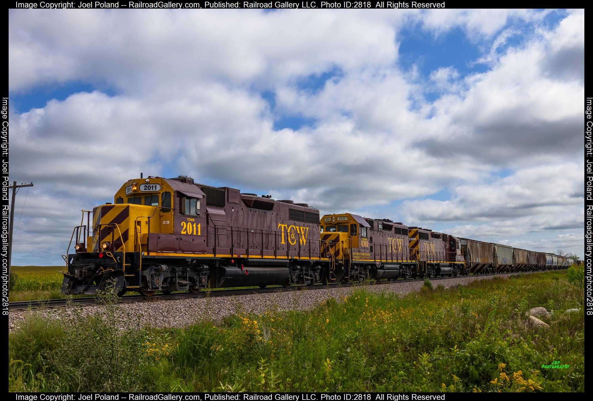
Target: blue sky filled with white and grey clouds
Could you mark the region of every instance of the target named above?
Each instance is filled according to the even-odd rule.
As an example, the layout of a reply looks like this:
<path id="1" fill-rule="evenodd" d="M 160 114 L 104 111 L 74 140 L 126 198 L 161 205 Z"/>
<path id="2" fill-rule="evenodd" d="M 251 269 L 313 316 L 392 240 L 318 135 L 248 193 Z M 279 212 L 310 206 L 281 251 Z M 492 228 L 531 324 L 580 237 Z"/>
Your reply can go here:
<path id="1" fill-rule="evenodd" d="M 25 10 L 13 265 L 129 179 L 584 256 L 584 10 Z"/>

